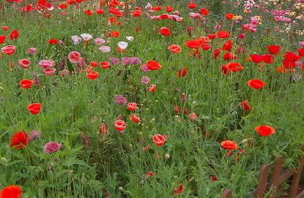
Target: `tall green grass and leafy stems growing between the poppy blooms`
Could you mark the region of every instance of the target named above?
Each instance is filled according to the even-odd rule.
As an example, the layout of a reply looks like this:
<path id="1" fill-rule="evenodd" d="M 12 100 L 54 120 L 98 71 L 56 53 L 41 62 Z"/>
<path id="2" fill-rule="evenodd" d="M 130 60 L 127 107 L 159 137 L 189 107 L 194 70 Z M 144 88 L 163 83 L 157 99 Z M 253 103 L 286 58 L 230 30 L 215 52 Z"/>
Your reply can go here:
<path id="1" fill-rule="evenodd" d="M 37 13 L 29 13 L 25 20 L 20 13 L 8 8 L 8 19 L 0 25 L 8 25 L 10 31 L 18 29 L 20 37 L 16 41 L 6 40 L 0 47 L 11 44 L 17 46 L 15 55 L 4 55 L 0 60 L 0 187 L 20 185 L 23 197 L 106 197 L 103 190 L 112 197 L 172 197 L 179 183 L 184 184 L 181 197 L 219 197 L 230 188 L 233 197 L 251 197 L 262 164 L 273 164 L 280 154 L 285 155 L 284 167 L 296 167 L 303 138 L 303 80 L 293 80 L 293 73 L 277 73 L 275 67 L 282 65 L 283 57 L 277 55 L 275 64 L 265 64 L 263 72 L 258 66 L 244 59 L 257 52 L 268 53 L 267 45 L 282 46 L 282 52 L 296 52 L 296 43 L 288 42 L 288 34 L 272 32 L 262 38 L 263 32 L 248 33 L 244 39 L 245 55 L 237 55 L 236 62 L 244 69 L 224 76 L 221 58 L 214 61 L 211 51 L 203 52 L 201 59 L 188 56 L 184 43 L 189 38 L 188 26 L 195 26 L 188 20 L 188 11 L 181 10 L 185 22 L 169 20 L 151 21 L 130 17 L 122 18 L 121 27 L 107 27 L 106 17 L 88 17 L 82 12 L 73 12 L 61 17 L 58 11 L 53 16 L 43 18 Z M 10 17 L 11 16 L 11 17 Z M 60 21 L 60 22 L 59 22 Z M 156 27 L 170 27 L 177 35 L 164 38 L 156 32 Z M 210 18 L 207 26 L 213 29 L 215 21 Z M 141 31 L 136 33 L 135 27 Z M 222 29 L 230 29 L 223 24 Z M 120 31 L 119 38 L 112 38 L 109 44 L 112 52 L 104 54 L 98 46 L 90 43 L 73 45 L 71 37 L 83 33 L 93 37 Z M 235 39 L 242 31 L 240 25 L 233 27 Z M 0 30 L 0 34 L 8 32 Z M 193 36 L 205 35 L 203 29 L 193 31 Z M 125 36 L 134 36 L 124 54 L 116 52 L 116 43 L 126 41 Z M 57 38 L 66 45 L 48 45 L 50 38 Z M 282 41 L 282 39 L 285 39 Z M 227 40 L 225 40 L 227 41 Z M 91 41 L 92 42 L 92 41 Z M 217 39 L 214 45 L 224 41 Z M 167 48 L 171 44 L 181 45 L 183 51 L 172 54 Z M 27 55 L 27 49 L 36 47 L 36 55 Z M 212 48 L 213 50 L 214 48 Z M 66 67 L 76 69 L 67 59 L 73 50 L 81 52 L 85 59 L 97 62 L 109 61 L 109 57 L 139 57 L 143 63 L 153 59 L 163 65 L 158 71 L 142 73 L 139 65 L 117 66 L 103 70 L 98 66 L 97 80 L 89 80 L 86 74 L 77 71 L 62 78 L 60 73 L 45 76 L 38 62 L 46 57 L 58 66 L 62 57 Z M 28 70 L 18 66 L 18 59 L 28 58 L 32 62 Z M 8 66 L 14 62 L 14 67 Z M 188 68 L 185 78 L 177 78 L 176 69 Z M 20 88 L 22 79 L 32 79 L 36 72 L 41 87 L 34 85 L 29 90 Z M 297 69 L 296 73 L 302 73 Z M 147 91 L 148 85 L 141 85 L 141 76 L 151 78 L 157 85 L 156 92 Z M 259 78 L 266 83 L 262 90 L 253 90 L 247 80 Z M 150 84 L 151 84 L 150 83 Z M 175 90 L 180 90 L 175 92 Z M 182 103 L 181 94 L 186 93 L 187 101 Z M 114 96 L 123 94 L 127 101 L 139 104 L 135 113 L 141 118 L 140 124 L 129 120 L 130 111 L 126 106 L 114 103 Z M 246 113 L 240 103 L 247 99 L 251 111 Z M 27 105 L 40 102 L 43 106 L 39 115 L 31 115 Z M 191 122 L 181 111 L 174 113 L 174 106 L 188 108 L 188 113 L 196 113 L 198 120 Z M 123 115 L 127 124 L 125 134 L 116 131 L 113 123 L 118 115 Z M 100 125 L 105 122 L 109 132 L 102 136 Z M 262 137 L 254 131 L 258 125 L 270 125 L 276 133 Z M 11 148 L 11 137 L 15 132 L 39 130 L 41 137 L 28 144 L 27 148 Z M 207 134 L 205 134 L 206 132 Z M 90 137 L 87 146 L 81 134 Z M 153 143 L 154 134 L 166 134 L 169 138 L 164 146 Z M 221 141 L 235 141 L 247 155 L 236 153 L 228 157 L 221 148 Z M 244 139 L 251 139 L 249 147 Z M 43 146 L 48 141 L 62 143 L 57 153 L 46 154 Z M 242 143 L 243 142 L 243 143 Z M 148 152 L 143 148 L 150 145 Z M 165 159 L 169 154 L 170 158 Z M 156 157 L 157 155 L 157 157 Z M 156 176 L 146 178 L 148 171 Z M 212 182 L 211 176 L 218 181 Z M 0 188 L 0 189 L 1 189 Z"/>

